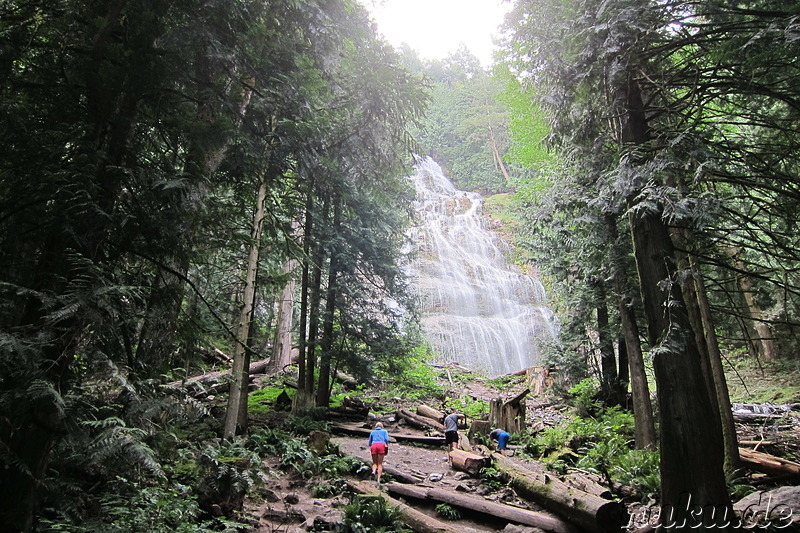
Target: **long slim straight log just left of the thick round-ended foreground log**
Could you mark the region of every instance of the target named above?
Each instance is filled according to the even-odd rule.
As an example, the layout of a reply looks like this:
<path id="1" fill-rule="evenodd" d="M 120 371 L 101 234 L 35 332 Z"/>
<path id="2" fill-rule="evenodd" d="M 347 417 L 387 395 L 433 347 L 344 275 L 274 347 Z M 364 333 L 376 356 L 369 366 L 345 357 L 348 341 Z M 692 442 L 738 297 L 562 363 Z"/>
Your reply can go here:
<path id="1" fill-rule="evenodd" d="M 389 483 L 386 485 L 386 490 L 388 490 L 390 494 L 416 498 L 418 500 L 443 502 L 448 505 L 455 505 L 457 507 L 469 509 L 470 511 L 477 511 L 517 524 L 534 526 L 544 529 L 545 531 L 553 531 L 554 533 L 578 533 L 580 531 L 569 522 L 565 522 L 555 516 L 490 502 L 479 496 L 471 496 L 436 488 L 401 485 L 399 483 Z"/>

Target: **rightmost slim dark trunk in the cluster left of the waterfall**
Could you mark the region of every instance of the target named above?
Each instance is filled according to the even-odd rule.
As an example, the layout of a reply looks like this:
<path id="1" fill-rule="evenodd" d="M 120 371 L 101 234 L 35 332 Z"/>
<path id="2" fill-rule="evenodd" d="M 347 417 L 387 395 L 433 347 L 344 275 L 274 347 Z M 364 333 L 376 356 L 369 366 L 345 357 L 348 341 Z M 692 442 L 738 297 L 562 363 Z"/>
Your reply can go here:
<path id="1" fill-rule="evenodd" d="M 317 384 L 317 407 L 328 407 L 331 397 L 331 352 L 333 351 L 333 321 L 336 313 L 339 275 L 339 245 L 337 239 L 341 232 L 342 205 L 339 198 L 334 199 L 333 238 L 328 261 L 328 283 L 325 295 L 325 315 L 320 340 L 319 382 Z"/>

